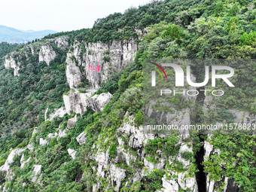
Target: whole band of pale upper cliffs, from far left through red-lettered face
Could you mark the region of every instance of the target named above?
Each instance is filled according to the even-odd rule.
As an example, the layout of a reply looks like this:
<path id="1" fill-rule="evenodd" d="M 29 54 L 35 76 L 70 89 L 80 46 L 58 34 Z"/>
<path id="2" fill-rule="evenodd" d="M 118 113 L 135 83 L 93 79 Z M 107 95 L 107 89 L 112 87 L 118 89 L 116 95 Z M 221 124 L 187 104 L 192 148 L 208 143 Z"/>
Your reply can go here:
<path id="1" fill-rule="evenodd" d="M 75 41 L 69 46 L 69 38 L 58 37 L 28 44 L 23 50 L 5 56 L 5 68 L 14 69 L 14 76 L 23 68 L 21 60 L 34 58 L 36 62 L 44 61 L 47 66 L 56 57 L 56 50 L 51 43 L 62 50 L 69 50 L 66 56 L 66 78 L 70 88 L 87 79 L 93 88 L 99 88 L 112 72 L 120 71 L 132 62 L 138 44 L 136 41 L 113 41 L 110 44 L 81 43 Z"/>

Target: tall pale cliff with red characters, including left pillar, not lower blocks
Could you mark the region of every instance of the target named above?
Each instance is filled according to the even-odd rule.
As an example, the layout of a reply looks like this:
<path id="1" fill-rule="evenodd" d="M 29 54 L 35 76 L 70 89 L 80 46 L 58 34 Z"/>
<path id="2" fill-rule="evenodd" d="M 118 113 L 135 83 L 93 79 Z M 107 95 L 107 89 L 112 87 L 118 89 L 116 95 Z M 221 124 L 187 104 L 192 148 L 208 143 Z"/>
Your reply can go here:
<path id="1" fill-rule="evenodd" d="M 93 88 L 99 88 L 111 72 L 133 61 L 138 45 L 135 41 L 113 41 L 111 44 L 75 41 L 72 50 L 66 59 L 69 87 L 75 87 L 86 78 Z"/>

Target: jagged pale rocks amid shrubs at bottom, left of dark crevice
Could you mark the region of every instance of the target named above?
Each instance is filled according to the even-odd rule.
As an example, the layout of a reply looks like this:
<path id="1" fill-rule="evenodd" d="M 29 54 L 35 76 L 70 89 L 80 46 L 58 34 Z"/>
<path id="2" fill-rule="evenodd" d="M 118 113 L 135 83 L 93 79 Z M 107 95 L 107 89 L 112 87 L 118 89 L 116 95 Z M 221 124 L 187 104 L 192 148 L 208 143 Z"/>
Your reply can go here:
<path id="1" fill-rule="evenodd" d="M 102 190 L 100 178 L 107 178 L 106 181 L 109 182 L 109 185 L 114 187 L 115 191 L 120 191 L 120 185 L 125 184 L 123 182 L 124 178 L 129 182 L 142 181 L 142 177 L 153 172 L 154 169 L 159 169 L 166 170 L 166 172 L 169 172 L 169 175 L 168 178 L 166 178 L 166 175 L 163 176 L 163 187 L 157 191 L 178 192 L 183 189 L 197 192 L 197 181 L 194 175 L 190 175 L 188 171 L 175 172 L 166 166 L 167 161 L 169 161 L 169 164 L 178 161 L 185 169 L 190 169 L 190 160 L 184 160 L 181 154 L 184 152 L 192 152 L 191 143 L 181 142 L 181 139 L 181 141 L 177 143 L 177 145 L 181 145 L 177 157 L 169 157 L 169 159 L 166 159 L 166 157 L 160 155 L 159 163 L 151 163 L 146 159 L 143 146 L 145 146 L 149 139 L 154 139 L 157 136 L 145 134 L 142 126 L 134 126 L 133 115 L 126 113 L 126 117 L 128 118 L 127 122 L 123 121 L 122 126 L 118 129 L 120 136 L 117 138 L 117 157 L 114 160 L 109 157 L 109 149 L 103 152 L 95 146 L 96 151 L 93 152 L 92 158 L 97 162 L 96 167 L 93 168 L 96 170 L 97 181 L 93 186 L 93 191 Z M 125 145 L 136 150 L 136 155 L 131 153 L 129 148 L 123 148 Z M 161 154 L 160 151 L 159 154 Z M 137 169 L 136 173 L 133 175 L 127 175 L 125 169 L 114 165 L 114 163 L 124 161 L 128 166 L 132 166 L 134 160 L 138 159 L 143 162 L 144 166 L 143 169 Z"/>

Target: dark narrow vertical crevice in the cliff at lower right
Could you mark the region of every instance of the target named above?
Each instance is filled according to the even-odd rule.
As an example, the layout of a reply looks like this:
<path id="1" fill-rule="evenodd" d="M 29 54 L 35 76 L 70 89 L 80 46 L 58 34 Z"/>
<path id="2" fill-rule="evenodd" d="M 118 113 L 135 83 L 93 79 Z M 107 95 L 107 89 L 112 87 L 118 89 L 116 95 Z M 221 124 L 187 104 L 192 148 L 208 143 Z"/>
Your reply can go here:
<path id="1" fill-rule="evenodd" d="M 197 88 L 197 90 L 202 90 L 203 87 Z M 203 92 L 199 92 L 197 96 L 197 108 L 195 109 L 196 115 L 194 117 L 194 123 L 203 123 L 203 102 L 205 99 L 205 95 Z M 196 179 L 197 179 L 197 186 L 198 186 L 198 192 L 206 192 L 206 173 L 204 172 L 204 166 L 203 166 L 203 157 L 205 155 L 205 150 L 204 150 L 204 134 L 202 132 L 198 133 L 198 138 L 200 142 L 200 149 L 197 150 L 195 153 L 195 160 L 197 163 L 197 169 L 199 170 L 198 172 L 195 172 Z"/>

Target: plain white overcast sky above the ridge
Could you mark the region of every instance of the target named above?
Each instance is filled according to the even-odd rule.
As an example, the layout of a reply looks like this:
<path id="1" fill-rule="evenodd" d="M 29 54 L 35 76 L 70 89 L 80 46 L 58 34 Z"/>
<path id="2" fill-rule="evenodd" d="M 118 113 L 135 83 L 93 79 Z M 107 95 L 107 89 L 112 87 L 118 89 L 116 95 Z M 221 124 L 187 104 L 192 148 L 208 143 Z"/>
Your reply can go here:
<path id="1" fill-rule="evenodd" d="M 1 0 L 0 25 L 57 32 L 91 28 L 96 19 L 151 0 Z"/>

